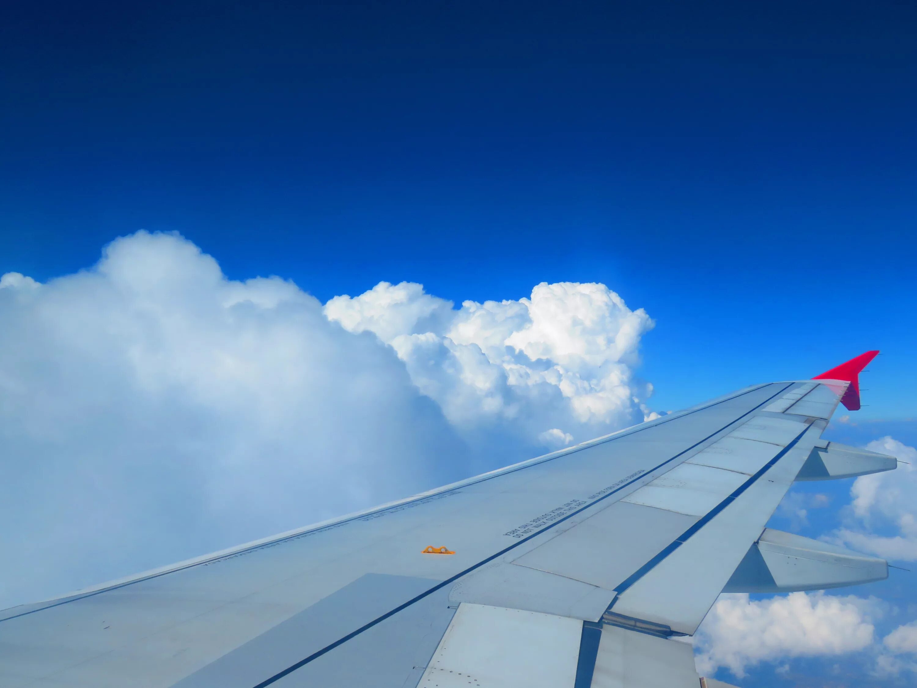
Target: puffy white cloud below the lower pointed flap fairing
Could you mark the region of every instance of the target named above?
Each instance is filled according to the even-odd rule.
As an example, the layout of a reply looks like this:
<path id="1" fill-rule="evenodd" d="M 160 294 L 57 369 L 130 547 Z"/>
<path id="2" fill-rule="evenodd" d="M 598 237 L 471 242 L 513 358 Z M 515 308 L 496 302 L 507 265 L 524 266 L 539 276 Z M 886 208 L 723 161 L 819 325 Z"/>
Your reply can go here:
<path id="1" fill-rule="evenodd" d="M 875 598 L 790 593 L 753 601 L 747 594 L 722 594 L 695 636 L 698 671 L 725 667 L 736 676 L 762 661 L 835 656 L 869 648 Z"/>

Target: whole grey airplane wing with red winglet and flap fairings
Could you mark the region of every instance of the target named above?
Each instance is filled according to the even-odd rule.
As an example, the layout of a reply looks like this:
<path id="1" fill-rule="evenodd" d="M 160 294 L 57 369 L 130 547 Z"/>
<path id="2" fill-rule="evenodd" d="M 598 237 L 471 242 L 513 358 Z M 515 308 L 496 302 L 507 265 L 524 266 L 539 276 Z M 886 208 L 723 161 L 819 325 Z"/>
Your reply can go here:
<path id="1" fill-rule="evenodd" d="M 697 688 L 721 592 L 884 579 L 766 528 L 868 352 L 425 494 L 0 613 L 6 688 Z M 686 640 L 688 642 L 686 642 Z"/>

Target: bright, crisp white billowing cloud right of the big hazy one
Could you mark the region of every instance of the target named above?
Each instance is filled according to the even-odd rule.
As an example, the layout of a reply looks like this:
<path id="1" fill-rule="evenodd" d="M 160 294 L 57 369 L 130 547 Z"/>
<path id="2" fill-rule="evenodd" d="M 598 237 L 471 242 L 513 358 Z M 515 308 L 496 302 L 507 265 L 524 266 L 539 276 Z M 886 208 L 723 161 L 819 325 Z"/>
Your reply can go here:
<path id="1" fill-rule="evenodd" d="M 336 296 L 325 313 L 391 345 L 469 438 L 512 427 L 524 441 L 556 446 L 649 414 L 651 388 L 633 366 L 653 321 L 603 284 L 541 283 L 531 298 L 454 309 L 419 284 L 380 283 Z"/>

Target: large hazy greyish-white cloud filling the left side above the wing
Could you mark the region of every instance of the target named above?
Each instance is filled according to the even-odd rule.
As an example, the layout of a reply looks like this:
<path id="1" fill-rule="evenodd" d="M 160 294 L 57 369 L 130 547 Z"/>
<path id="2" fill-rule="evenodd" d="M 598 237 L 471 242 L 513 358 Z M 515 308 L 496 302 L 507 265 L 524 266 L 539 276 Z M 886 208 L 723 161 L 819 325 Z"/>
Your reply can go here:
<path id="1" fill-rule="evenodd" d="M 392 350 L 142 232 L 89 271 L 2 278 L 0 444 L 0 606 L 469 472 Z"/>

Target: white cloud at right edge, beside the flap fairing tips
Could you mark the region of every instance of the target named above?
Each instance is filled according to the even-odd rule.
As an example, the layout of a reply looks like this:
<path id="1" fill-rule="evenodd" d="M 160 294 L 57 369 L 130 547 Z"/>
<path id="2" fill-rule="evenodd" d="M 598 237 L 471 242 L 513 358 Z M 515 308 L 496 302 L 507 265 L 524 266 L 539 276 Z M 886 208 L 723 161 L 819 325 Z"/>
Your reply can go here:
<path id="1" fill-rule="evenodd" d="M 901 462 L 895 471 L 856 479 L 850 488 L 853 517 L 831 539 L 885 559 L 917 560 L 917 449 L 889 437 L 866 448 Z"/>

